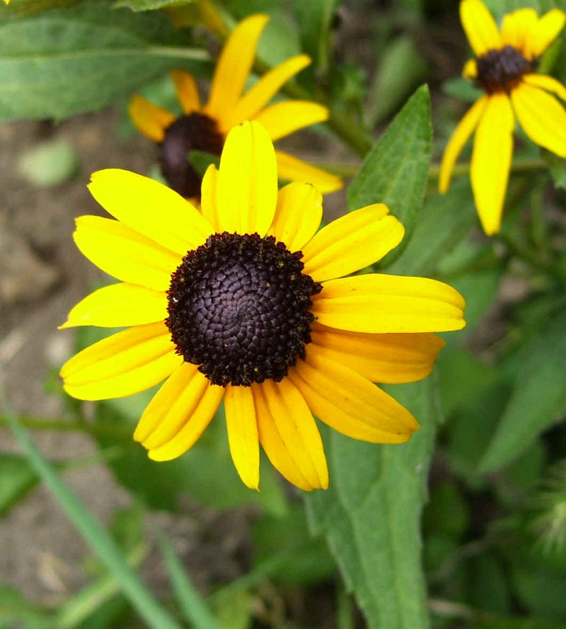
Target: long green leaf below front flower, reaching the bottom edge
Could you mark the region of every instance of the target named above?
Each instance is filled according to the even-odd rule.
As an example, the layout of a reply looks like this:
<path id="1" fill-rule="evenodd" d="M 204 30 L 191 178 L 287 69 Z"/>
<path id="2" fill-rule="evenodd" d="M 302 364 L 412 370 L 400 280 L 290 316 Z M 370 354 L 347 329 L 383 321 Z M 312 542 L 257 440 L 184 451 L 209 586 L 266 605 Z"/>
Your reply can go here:
<path id="1" fill-rule="evenodd" d="M 439 411 L 431 378 L 388 391 L 422 430 L 387 446 L 330 433 L 330 487 L 305 500 L 313 531 L 328 539 L 369 628 L 425 629 L 419 520 Z"/>

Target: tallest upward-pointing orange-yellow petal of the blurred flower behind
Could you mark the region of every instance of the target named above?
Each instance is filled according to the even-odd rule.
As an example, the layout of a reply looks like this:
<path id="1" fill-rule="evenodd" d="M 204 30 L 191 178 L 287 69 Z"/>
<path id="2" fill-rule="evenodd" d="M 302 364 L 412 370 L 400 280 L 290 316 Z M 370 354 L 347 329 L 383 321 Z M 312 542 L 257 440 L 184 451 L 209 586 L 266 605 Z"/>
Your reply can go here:
<path id="1" fill-rule="evenodd" d="M 246 85 L 255 49 L 267 21 L 269 17 L 260 14 L 241 21 L 226 41 L 216 64 L 209 100 L 203 111 L 217 120 L 224 132 L 228 130 L 225 116 L 236 106 Z"/>

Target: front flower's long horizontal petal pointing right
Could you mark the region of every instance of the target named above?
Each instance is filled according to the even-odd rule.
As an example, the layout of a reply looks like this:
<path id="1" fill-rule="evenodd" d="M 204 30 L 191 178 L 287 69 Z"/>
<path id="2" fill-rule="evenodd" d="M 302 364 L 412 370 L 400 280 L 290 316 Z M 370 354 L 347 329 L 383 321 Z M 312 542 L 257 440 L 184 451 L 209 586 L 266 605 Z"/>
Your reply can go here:
<path id="1" fill-rule="evenodd" d="M 457 290 L 437 280 L 368 273 L 325 282 L 311 312 L 352 332 L 441 332 L 464 327 L 464 306 Z"/>

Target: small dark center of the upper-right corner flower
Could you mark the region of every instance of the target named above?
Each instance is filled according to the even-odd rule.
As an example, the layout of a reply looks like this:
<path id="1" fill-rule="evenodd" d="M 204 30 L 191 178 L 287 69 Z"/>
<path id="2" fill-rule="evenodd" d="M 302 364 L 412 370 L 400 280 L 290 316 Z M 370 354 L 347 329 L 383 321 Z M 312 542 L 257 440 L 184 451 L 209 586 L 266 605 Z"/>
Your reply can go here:
<path id="1" fill-rule="evenodd" d="M 526 59 L 513 46 L 501 50 L 488 50 L 478 57 L 478 85 L 487 92 L 509 94 L 521 82 L 524 74 L 536 69 L 537 60 Z"/>

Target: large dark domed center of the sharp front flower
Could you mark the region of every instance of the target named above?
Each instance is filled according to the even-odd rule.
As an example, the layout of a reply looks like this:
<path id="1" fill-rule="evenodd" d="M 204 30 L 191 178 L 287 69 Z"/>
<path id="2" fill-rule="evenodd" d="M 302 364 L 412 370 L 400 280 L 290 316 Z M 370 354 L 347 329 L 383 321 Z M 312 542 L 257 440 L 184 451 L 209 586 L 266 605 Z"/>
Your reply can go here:
<path id="1" fill-rule="evenodd" d="M 179 353 L 214 385 L 279 382 L 311 342 L 301 251 L 272 236 L 213 234 L 171 276 L 166 325 Z"/>

